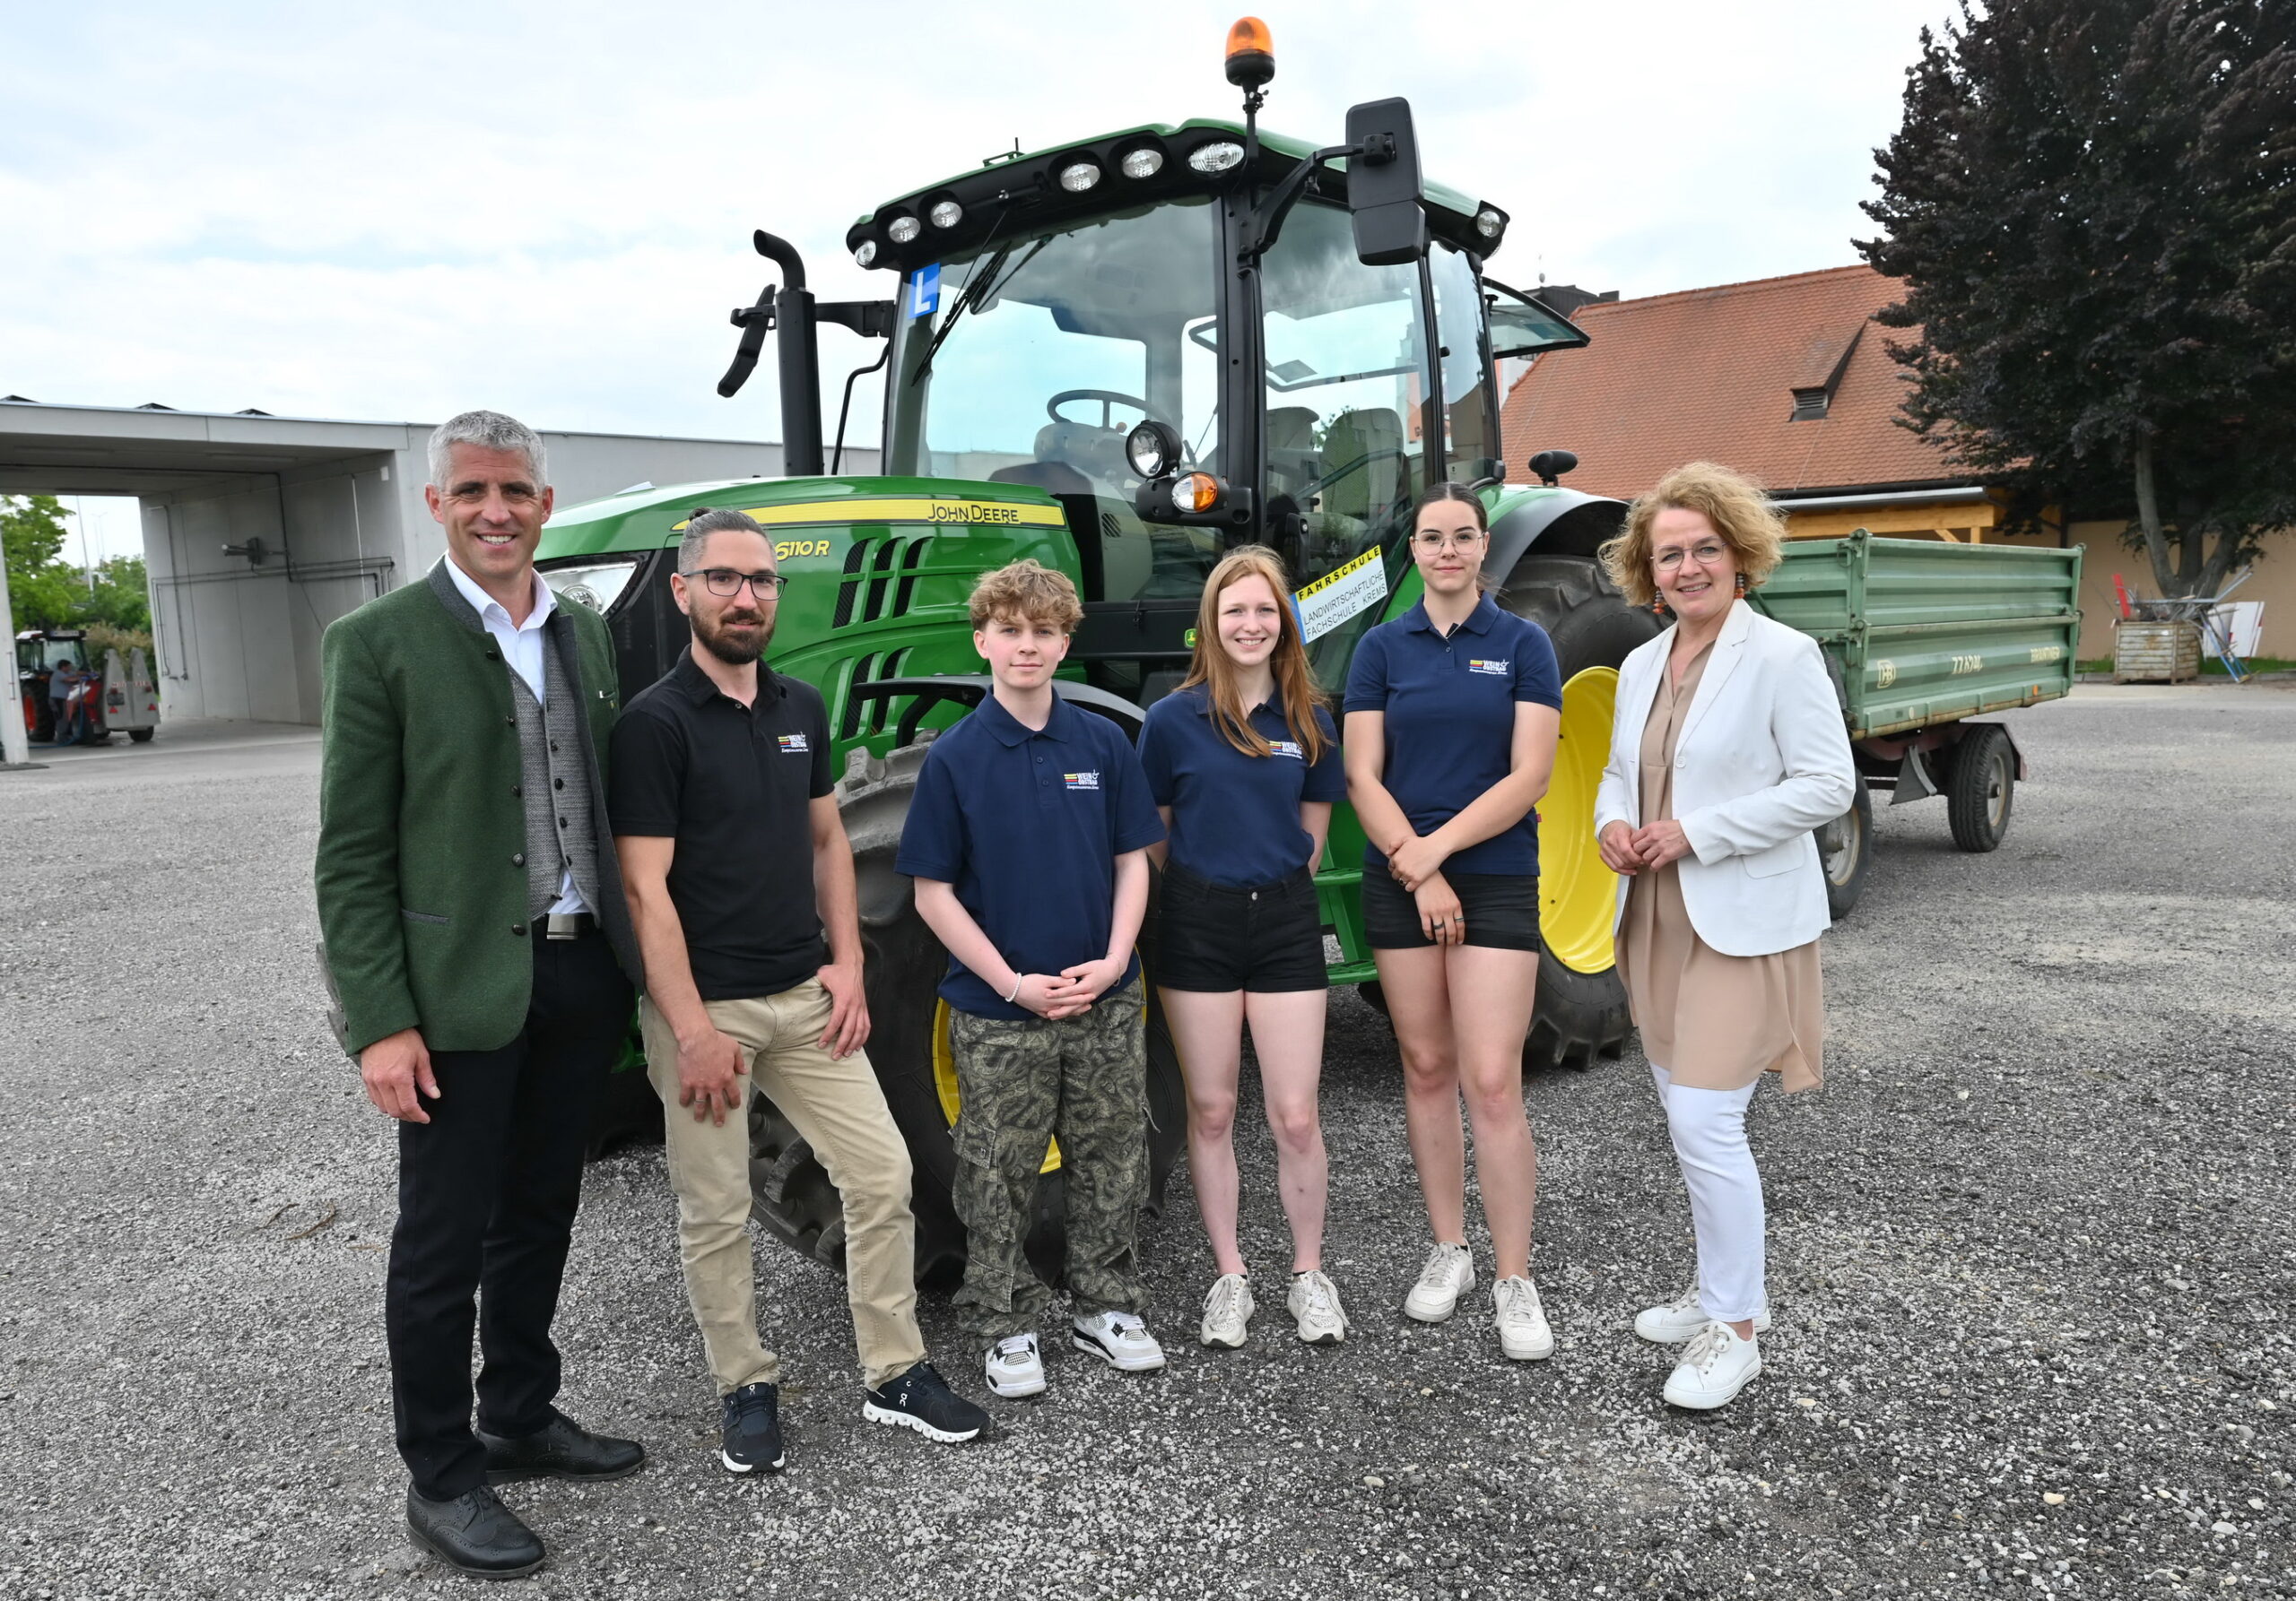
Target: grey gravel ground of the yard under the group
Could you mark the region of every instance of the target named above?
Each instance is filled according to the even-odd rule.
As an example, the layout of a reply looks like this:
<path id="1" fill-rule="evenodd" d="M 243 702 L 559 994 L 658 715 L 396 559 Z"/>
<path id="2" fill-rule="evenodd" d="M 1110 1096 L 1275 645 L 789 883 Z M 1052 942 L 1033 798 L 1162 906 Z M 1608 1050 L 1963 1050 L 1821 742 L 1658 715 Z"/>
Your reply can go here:
<path id="1" fill-rule="evenodd" d="M 730 1482 L 661 1151 L 597 1163 L 565 1406 L 652 1461 L 514 1486 L 553 1557 L 530 1594 L 2296 1594 L 2296 693 L 2082 688 L 2011 725 L 2009 842 L 1880 812 L 1825 950 L 1830 1083 L 1756 1099 L 1777 1330 L 1731 1408 L 1669 1413 L 1628 1330 L 1690 1268 L 1632 1051 L 1529 1087 L 1554 1360 L 1502 1362 L 1488 1303 L 1405 1326 L 1394 1041 L 1343 995 L 1355 1340 L 1290 1340 L 1256 1128 L 1256 1344 L 1194 1346 L 1180 1179 L 1141 1239 L 1171 1367 L 1061 1356 L 964 1452 L 861 1424 L 840 1282 L 760 1243 L 792 1468 Z M 0 773 L 0 1596 L 466 1587 L 400 1528 L 390 1140 L 317 1009 L 315 745 L 191 734 Z"/>

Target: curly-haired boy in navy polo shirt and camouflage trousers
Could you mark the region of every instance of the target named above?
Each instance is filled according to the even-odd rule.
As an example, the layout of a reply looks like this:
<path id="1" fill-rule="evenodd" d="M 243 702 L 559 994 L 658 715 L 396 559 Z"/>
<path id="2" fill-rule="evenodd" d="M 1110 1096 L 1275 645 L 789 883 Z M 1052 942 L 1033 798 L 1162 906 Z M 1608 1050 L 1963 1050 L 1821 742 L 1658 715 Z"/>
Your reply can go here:
<path id="1" fill-rule="evenodd" d="M 1052 690 L 1084 622 L 1075 585 L 1013 562 L 974 587 L 971 619 L 996 690 L 932 741 L 895 867 L 948 947 L 953 1197 L 969 1236 L 957 1317 L 987 1346 L 990 1390 L 1015 1397 L 1045 1388 L 1052 1289 L 1022 1241 L 1054 1135 L 1072 1340 L 1120 1372 L 1164 1365 L 1139 1319 L 1148 1057 L 1132 952 L 1164 823 L 1123 729 Z"/>

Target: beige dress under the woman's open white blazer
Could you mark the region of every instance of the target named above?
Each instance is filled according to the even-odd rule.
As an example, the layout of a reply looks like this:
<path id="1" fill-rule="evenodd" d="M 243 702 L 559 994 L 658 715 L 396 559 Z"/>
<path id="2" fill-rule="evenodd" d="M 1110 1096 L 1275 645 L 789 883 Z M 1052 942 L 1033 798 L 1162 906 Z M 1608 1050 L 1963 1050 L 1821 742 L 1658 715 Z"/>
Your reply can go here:
<path id="1" fill-rule="evenodd" d="M 1681 686 L 1669 663 L 1658 667 L 1658 697 L 1642 725 L 1644 826 L 1674 817 L 1674 741 L 1711 656 L 1708 645 Z M 1745 1090 L 1766 1071 L 1782 1073 L 1789 1092 L 1816 1085 L 1825 1044 L 1818 943 L 1724 956 L 1690 927 L 1676 862 L 1639 872 L 1628 885 L 1619 977 L 1644 1055 L 1692 1090 Z"/>

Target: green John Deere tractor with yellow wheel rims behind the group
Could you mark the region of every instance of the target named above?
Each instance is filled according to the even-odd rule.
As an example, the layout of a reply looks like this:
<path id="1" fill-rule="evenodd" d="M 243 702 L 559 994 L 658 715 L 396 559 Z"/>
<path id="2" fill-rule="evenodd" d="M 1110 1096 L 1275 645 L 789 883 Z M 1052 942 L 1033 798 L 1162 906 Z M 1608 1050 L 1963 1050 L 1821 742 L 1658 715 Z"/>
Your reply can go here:
<path id="1" fill-rule="evenodd" d="M 1541 452 L 1513 463 L 1541 484 L 1506 482 L 1495 372 L 1587 337 L 1486 273 L 1506 213 L 1421 181 L 1403 101 L 1357 106 L 1345 142 L 1316 149 L 1256 126 L 1270 73 L 1263 50 L 1231 50 L 1240 124 L 1123 128 L 877 206 L 847 245 L 898 278 L 886 300 L 817 303 L 797 252 L 760 232 L 781 282 L 735 312 L 742 344 L 719 390 L 732 395 L 778 333 L 790 477 L 631 491 L 544 530 L 544 576 L 613 626 L 625 700 L 687 642 L 668 580 L 691 509 L 739 507 L 774 534 L 790 585 L 771 661 L 829 704 L 861 878 L 870 1060 L 914 1156 L 928 1282 L 948 1282 L 964 1252 L 948 1206 L 957 1087 L 934 995 L 946 956 L 893 853 L 925 743 L 987 693 L 964 606 L 976 576 L 1010 560 L 1033 555 L 1077 583 L 1086 619 L 1061 693 L 1137 732 L 1187 667 L 1221 550 L 1283 553 L 1316 672 L 1336 693 L 1364 631 L 1419 596 L 1405 548 L 1414 498 L 1440 479 L 1479 486 L 1497 601 L 1548 628 L 1566 681 L 1541 805 L 1548 959 L 1527 1060 L 1584 1067 L 1628 1032 L 1609 943 L 1616 881 L 1589 819 L 1614 670 L 1658 624 L 1593 560 L 1623 507 L 1554 486 L 1575 456 Z M 877 477 L 840 475 L 836 456 L 824 473 L 820 321 L 889 342 Z M 840 417 L 838 456 L 843 431 Z M 1334 984 L 1378 1002 L 1362 844 L 1339 807 L 1318 885 Z M 1185 1101 L 1155 1002 L 1148 1041 L 1162 1197 Z M 838 1262 L 838 1197 L 813 1151 L 771 1103 L 751 1117 L 758 1218 Z M 1058 1229 L 1054 1149 L 1031 1241 L 1040 1259 Z"/>

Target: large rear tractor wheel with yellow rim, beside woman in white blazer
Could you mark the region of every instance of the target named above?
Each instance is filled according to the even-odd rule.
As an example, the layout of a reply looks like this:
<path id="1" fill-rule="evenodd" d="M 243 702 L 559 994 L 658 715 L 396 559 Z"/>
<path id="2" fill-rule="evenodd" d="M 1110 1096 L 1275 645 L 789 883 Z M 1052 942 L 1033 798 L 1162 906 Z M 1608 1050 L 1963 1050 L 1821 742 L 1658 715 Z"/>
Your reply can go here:
<path id="1" fill-rule="evenodd" d="M 1527 1071 L 1616 1057 L 1632 1032 L 1612 947 L 1619 876 L 1593 844 L 1593 796 L 1609 762 L 1619 663 L 1660 631 L 1582 555 L 1525 555 L 1495 596 L 1554 642 L 1564 727 L 1554 778 L 1538 803 L 1538 1002 L 1522 1046 Z"/>

